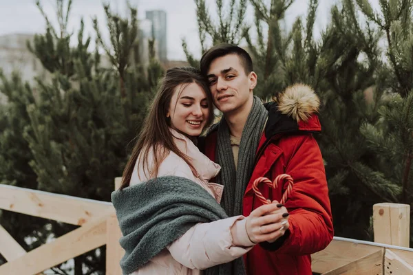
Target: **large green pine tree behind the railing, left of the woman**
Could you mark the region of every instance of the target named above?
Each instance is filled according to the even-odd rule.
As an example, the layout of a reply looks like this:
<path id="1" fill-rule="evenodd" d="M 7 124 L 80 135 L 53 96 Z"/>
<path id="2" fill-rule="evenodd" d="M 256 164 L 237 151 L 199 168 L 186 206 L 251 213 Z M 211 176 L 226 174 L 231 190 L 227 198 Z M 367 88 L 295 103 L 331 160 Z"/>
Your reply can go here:
<path id="1" fill-rule="evenodd" d="M 58 28 L 51 25 L 41 3 L 36 2 L 46 21 L 46 32 L 36 35 L 28 48 L 51 73 L 52 80 L 37 78 L 36 97 L 21 99 L 25 100 L 19 105 L 25 113 L 25 124 L 20 126 L 19 135 L 25 147 L 12 148 L 14 151 L 27 148 L 26 154 L 30 156 L 19 159 L 25 161 L 34 175 L 35 186 L 30 188 L 109 201 L 114 178 L 122 173 L 128 158 L 127 146 L 142 124 L 158 78 L 163 74 L 162 68 L 154 57 L 153 43 L 147 67 L 138 56 L 136 8 L 129 6 L 129 16 L 123 18 L 104 5 L 110 44 L 104 43 L 95 18 L 92 23 L 97 47 L 90 52 L 91 38 L 84 34 L 83 20 L 77 45 L 70 45 L 73 34 L 67 32 L 67 23 L 72 1 L 56 0 L 56 3 Z M 106 56 L 100 55 L 100 49 Z M 104 58 L 109 59 L 109 65 L 102 62 Z M 2 80 L 5 87 L 10 83 L 6 78 Z M 32 92 L 21 81 L 15 82 L 14 86 L 9 85 L 10 93 L 16 87 L 21 87 L 20 94 Z M 6 129 L 12 124 L 4 117 L 0 122 Z M 3 144 L 11 145 L 0 143 Z M 10 159 L 0 161 L 14 165 Z M 39 219 L 32 224 L 36 225 L 31 228 L 35 233 L 16 236 L 22 242 L 26 236 L 34 236 L 35 242 L 28 250 L 45 243 L 47 236 L 59 237 L 76 228 Z M 62 265 L 54 270 L 59 274 L 68 271 Z M 73 271 L 104 274 L 104 248 L 76 257 Z"/>

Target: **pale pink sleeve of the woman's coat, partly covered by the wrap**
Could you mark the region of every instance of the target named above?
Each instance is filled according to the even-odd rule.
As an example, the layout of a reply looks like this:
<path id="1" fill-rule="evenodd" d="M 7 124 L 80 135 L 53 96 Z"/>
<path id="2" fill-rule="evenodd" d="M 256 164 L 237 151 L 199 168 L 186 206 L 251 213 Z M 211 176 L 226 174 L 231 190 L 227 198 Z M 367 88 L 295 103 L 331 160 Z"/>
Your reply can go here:
<path id="1" fill-rule="evenodd" d="M 169 163 L 170 164 L 170 163 Z M 176 175 L 196 182 L 186 162 L 175 162 L 176 167 L 160 168 L 158 177 Z M 246 254 L 254 243 L 246 234 L 244 216 L 230 217 L 211 223 L 198 223 L 167 247 L 173 259 L 190 269 L 204 270 L 228 263 Z"/>

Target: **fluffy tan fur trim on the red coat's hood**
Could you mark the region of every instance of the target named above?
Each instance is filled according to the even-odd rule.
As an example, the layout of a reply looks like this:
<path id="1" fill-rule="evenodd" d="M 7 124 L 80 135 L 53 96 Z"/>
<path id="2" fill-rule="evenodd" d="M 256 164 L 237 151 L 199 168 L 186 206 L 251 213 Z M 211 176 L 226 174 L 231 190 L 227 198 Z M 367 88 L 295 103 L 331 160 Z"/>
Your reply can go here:
<path id="1" fill-rule="evenodd" d="M 295 84 L 277 96 L 278 109 L 297 122 L 306 122 L 313 113 L 319 111 L 320 100 L 308 85 Z"/>

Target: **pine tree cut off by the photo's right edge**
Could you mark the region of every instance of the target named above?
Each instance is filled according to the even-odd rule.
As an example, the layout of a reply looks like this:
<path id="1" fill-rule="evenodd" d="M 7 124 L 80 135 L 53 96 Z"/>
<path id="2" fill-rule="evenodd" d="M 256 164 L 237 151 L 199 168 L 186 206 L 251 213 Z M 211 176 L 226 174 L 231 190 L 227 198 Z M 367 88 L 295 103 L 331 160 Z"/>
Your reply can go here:
<path id="1" fill-rule="evenodd" d="M 376 85 L 388 104 L 379 109 L 380 122 L 366 123 L 361 133 L 379 159 L 376 170 L 382 180 L 402 188 L 398 201 L 413 200 L 413 3 L 410 0 L 381 1 L 374 11 L 369 1 L 357 0 L 365 19 L 383 35 L 387 57 L 387 77 Z"/>

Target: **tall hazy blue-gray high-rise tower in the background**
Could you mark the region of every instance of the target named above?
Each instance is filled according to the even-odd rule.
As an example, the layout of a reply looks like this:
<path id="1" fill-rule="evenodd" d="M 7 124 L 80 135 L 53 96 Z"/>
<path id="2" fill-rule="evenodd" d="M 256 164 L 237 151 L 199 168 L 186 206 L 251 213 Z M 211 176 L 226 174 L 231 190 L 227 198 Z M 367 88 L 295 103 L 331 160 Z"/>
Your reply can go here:
<path id="1" fill-rule="evenodd" d="M 146 19 L 152 22 L 151 35 L 155 39 L 157 56 L 161 62 L 165 62 L 168 60 L 167 13 L 163 10 L 148 10 Z"/>

